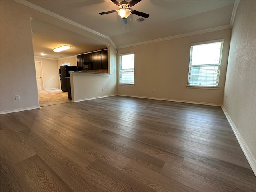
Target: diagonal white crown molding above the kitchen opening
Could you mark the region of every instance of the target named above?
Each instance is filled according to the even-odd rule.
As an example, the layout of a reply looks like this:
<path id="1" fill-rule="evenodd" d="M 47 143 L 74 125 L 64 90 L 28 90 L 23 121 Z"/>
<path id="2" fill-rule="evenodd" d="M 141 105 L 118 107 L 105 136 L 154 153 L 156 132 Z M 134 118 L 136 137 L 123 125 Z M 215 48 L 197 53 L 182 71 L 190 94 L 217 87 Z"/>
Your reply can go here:
<path id="1" fill-rule="evenodd" d="M 79 28 L 81 28 L 81 29 L 83 29 L 83 30 L 86 30 L 86 31 L 88 31 L 88 32 L 91 32 L 91 33 L 93 33 L 93 34 L 96 34 L 96 35 L 98 35 L 98 36 L 101 36 L 101 37 L 103 37 L 103 38 L 106 38 L 106 39 L 109 40 L 110 43 L 116 48 L 116 45 L 115 45 L 114 42 L 110 39 L 110 37 L 108 37 L 108 36 L 106 36 L 106 35 L 104 35 L 104 34 L 101 34 L 101 33 L 97 32 L 97 31 L 94 31 L 94 30 L 92 30 L 91 28 L 88 28 L 88 27 L 86 27 L 86 26 L 83 26 L 83 25 L 81 25 L 81 24 L 79 24 L 79 23 L 77 23 L 77 22 L 74 22 L 74 21 L 72 21 L 72 20 L 70 20 L 70 19 L 68 19 L 68 18 L 66 18 L 66 17 L 60 16 L 60 15 L 54 13 L 54 12 L 51 12 L 51 11 L 45 9 L 45 8 L 42 8 L 42 7 L 40 7 L 40 6 L 37 6 L 37 5 L 35 5 L 35 4 L 33 4 L 33 3 L 30 3 L 30 2 L 28 2 L 28 1 L 26 1 L 26 0 L 15 0 L 15 1 L 18 2 L 18 3 L 20 3 L 20 4 L 23 4 L 23 5 L 25 5 L 25 6 L 28 6 L 28 7 L 32 8 L 32 9 L 38 10 L 38 11 L 44 13 L 44 14 L 50 15 L 50 16 L 52 16 L 52 17 L 54 17 L 54 18 L 57 18 L 57 19 L 59 19 L 59 20 L 62 20 L 62 21 L 67 22 L 67 23 L 69 23 L 69 24 L 72 24 L 72 25 L 74 25 L 74 26 L 76 26 L 76 27 L 79 27 Z"/>

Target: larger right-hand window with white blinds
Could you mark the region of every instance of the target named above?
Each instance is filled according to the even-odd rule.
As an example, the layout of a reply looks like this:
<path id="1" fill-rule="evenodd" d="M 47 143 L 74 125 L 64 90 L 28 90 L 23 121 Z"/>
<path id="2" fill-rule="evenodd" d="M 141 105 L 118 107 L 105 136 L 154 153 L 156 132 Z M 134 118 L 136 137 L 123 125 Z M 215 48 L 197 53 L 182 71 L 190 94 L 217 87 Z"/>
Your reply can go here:
<path id="1" fill-rule="evenodd" d="M 224 40 L 191 44 L 188 86 L 218 86 Z"/>

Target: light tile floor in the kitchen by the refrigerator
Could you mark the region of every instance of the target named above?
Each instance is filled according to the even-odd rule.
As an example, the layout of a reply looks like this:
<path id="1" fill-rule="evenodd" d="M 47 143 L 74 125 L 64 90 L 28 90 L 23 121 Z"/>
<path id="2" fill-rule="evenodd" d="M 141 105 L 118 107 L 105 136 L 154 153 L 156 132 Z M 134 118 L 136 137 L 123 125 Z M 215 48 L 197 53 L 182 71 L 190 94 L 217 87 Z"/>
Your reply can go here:
<path id="1" fill-rule="evenodd" d="M 38 90 L 38 98 L 40 107 L 71 102 L 68 93 L 60 89 Z"/>

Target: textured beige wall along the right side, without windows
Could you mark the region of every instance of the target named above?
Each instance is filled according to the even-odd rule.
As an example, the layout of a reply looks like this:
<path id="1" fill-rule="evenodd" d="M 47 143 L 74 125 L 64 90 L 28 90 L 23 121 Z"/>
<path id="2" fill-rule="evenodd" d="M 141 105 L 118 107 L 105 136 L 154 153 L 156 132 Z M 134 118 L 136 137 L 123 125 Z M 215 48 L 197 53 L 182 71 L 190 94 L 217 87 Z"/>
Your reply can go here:
<path id="1" fill-rule="evenodd" d="M 240 1 L 234 20 L 223 106 L 256 174 L 256 1 Z M 250 162 L 250 161 L 249 161 Z"/>

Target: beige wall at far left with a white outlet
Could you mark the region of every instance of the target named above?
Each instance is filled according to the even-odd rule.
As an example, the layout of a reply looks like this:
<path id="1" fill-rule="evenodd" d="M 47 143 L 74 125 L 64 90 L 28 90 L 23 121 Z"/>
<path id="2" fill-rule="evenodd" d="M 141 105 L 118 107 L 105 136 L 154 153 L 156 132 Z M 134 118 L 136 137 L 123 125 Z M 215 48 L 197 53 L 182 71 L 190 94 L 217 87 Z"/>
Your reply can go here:
<path id="1" fill-rule="evenodd" d="M 16 5 L 0 1 L 1 114 L 39 108 L 30 16 Z"/>

